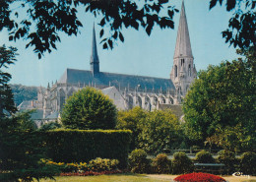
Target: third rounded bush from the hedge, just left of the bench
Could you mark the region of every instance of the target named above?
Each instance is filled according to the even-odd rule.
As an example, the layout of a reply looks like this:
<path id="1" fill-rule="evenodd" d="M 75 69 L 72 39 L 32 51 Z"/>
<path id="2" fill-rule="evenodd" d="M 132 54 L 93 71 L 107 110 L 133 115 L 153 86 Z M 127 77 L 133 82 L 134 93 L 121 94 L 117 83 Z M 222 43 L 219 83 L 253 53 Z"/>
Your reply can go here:
<path id="1" fill-rule="evenodd" d="M 186 155 L 185 152 L 174 152 L 172 159 L 172 173 L 183 174 L 193 171 L 192 160 Z"/>

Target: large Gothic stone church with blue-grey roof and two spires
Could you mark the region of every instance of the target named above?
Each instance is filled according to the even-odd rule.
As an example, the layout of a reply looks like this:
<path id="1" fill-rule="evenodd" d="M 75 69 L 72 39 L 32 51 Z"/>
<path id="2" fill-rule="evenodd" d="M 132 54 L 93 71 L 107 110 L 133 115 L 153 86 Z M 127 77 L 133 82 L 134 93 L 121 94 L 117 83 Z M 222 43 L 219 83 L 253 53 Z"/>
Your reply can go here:
<path id="1" fill-rule="evenodd" d="M 40 89 L 32 108 L 41 113 L 41 119 L 59 117 L 66 98 L 85 87 L 94 87 L 107 94 L 119 110 L 140 106 L 146 110 L 180 105 L 189 86 L 197 77 L 194 65 L 184 2 L 182 2 L 173 66 L 169 79 L 101 72 L 100 56 L 96 48 L 96 31 L 93 29 L 91 70 L 67 68 L 62 77 L 46 90 Z M 20 106 L 20 109 L 24 109 Z"/>

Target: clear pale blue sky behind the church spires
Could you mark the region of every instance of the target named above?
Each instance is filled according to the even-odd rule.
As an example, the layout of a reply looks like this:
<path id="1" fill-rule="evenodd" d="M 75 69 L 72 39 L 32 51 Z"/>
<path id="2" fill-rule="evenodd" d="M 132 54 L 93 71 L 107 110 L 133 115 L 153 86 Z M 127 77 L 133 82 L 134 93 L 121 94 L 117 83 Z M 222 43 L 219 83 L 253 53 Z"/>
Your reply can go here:
<path id="1" fill-rule="evenodd" d="M 173 0 L 170 5 L 180 9 L 181 2 Z M 224 43 L 221 34 L 227 28 L 231 16 L 224 8 L 218 5 L 209 11 L 209 1 L 185 0 L 192 53 L 198 71 L 206 69 L 209 64 L 218 65 L 223 60 L 237 57 L 235 49 Z M 80 29 L 81 33 L 77 36 L 60 33 L 61 42 L 57 43 L 57 50 L 46 53 L 40 60 L 32 52 L 32 48 L 25 48 L 28 43 L 26 40 L 9 42 L 8 32 L 0 32 L 0 45 L 16 46 L 20 54 L 17 57 L 18 62 L 9 69 L 13 76 L 11 84 L 46 87 L 47 83 L 55 83 L 67 68 L 90 70 L 93 24 L 98 24 L 100 19 L 85 14 L 82 8 L 80 11 L 79 19 L 84 26 Z M 99 44 L 100 27 L 96 25 L 100 71 L 169 78 L 178 20 L 179 13 L 174 15 L 174 30 L 160 30 L 155 27 L 151 36 L 141 28 L 122 30 L 125 41 L 115 42 L 113 50 L 102 49 L 102 44 Z"/>

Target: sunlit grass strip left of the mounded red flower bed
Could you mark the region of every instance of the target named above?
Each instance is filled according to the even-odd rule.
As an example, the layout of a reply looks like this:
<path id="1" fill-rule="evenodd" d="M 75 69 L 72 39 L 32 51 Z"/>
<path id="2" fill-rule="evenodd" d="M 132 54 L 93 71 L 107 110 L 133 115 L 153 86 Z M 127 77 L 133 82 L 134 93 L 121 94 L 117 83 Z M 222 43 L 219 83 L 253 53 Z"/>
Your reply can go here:
<path id="1" fill-rule="evenodd" d="M 166 179 L 154 179 L 140 174 L 112 174 L 100 176 L 58 176 L 57 182 L 169 182 Z M 40 182 L 54 182 L 54 180 L 40 180 Z"/>

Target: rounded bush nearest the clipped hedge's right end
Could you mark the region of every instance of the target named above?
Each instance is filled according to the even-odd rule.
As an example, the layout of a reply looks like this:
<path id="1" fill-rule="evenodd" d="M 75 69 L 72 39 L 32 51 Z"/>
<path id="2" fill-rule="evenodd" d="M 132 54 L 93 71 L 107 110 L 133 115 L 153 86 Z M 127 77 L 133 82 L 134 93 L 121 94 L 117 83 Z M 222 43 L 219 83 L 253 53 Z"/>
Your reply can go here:
<path id="1" fill-rule="evenodd" d="M 148 173 L 150 172 L 150 160 L 147 159 L 147 152 L 134 150 L 129 157 L 131 172 Z"/>

